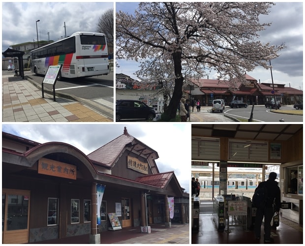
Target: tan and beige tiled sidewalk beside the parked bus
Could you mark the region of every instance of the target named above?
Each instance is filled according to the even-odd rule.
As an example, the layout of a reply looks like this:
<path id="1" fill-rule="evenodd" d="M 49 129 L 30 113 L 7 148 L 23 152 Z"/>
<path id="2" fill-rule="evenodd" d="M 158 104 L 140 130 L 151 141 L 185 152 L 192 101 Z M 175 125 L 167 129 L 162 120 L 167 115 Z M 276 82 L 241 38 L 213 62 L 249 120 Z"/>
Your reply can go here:
<path id="1" fill-rule="evenodd" d="M 2 122 L 113 122 L 113 119 L 74 100 L 36 88 L 20 76 L 2 75 Z"/>

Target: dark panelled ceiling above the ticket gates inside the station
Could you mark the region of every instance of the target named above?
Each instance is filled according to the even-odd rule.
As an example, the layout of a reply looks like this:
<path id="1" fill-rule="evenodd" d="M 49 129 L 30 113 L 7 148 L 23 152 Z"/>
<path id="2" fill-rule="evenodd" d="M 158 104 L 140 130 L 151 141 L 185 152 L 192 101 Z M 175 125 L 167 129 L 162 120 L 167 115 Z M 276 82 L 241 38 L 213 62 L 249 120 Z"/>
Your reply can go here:
<path id="1" fill-rule="evenodd" d="M 192 124 L 192 136 L 286 141 L 303 124 Z"/>

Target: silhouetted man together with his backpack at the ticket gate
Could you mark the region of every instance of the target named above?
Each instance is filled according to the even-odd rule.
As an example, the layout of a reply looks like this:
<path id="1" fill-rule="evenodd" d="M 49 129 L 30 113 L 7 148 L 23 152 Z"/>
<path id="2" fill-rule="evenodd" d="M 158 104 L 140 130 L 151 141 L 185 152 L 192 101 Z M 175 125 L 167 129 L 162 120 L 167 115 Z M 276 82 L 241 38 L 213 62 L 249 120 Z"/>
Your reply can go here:
<path id="1" fill-rule="evenodd" d="M 261 182 L 255 189 L 252 205 L 256 207 L 256 217 L 254 232 L 256 239 L 261 238 L 261 225 L 264 218 L 264 242 L 270 243 L 271 240 L 271 220 L 275 212 L 279 213 L 280 209 L 280 189 L 277 185 L 276 173 L 271 172 L 267 181 Z"/>

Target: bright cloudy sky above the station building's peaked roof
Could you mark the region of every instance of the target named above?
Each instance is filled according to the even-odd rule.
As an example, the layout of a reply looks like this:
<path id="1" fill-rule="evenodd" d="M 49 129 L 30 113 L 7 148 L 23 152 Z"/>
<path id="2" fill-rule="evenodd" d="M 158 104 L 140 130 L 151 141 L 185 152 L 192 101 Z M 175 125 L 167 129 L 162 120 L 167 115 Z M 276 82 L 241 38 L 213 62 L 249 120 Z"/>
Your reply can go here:
<path id="1" fill-rule="evenodd" d="M 181 123 L 110 123 L 110 124 L 2 124 L 2 131 L 38 143 L 68 143 L 85 154 L 123 134 L 130 135 L 155 150 L 160 172 L 174 171 L 180 185 L 189 191 L 190 125 Z"/>

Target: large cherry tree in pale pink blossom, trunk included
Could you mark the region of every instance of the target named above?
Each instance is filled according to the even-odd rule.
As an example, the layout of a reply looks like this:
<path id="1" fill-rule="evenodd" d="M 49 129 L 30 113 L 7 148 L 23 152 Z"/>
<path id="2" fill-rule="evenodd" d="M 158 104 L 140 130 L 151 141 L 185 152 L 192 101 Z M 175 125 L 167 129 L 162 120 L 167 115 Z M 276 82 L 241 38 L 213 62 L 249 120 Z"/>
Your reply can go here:
<path id="1" fill-rule="evenodd" d="M 268 62 L 284 47 L 263 44 L 258 31 L 271 2 L 141 2 L 134 14 L 116 15 L 117 59 L 162 57 L 171 61 L 174 91 L 163 119 L 176 117 L 183 92 L 183 69 L 204 76 L 243 81 L 246 71 Z M 156 72 L 156 71 L 154 71 Z M 233 82 L 232 82 L 233 83 Z"/>

